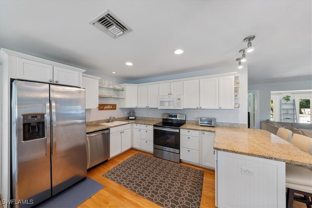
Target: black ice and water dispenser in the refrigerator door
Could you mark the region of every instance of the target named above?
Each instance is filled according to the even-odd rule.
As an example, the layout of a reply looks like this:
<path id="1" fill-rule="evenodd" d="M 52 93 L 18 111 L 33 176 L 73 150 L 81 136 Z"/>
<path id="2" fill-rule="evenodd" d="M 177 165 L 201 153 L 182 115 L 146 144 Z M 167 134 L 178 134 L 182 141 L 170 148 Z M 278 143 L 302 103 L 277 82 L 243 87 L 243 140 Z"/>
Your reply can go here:
<path id="1" fill-rule="evenodd" d="M 45 113 L 23 114 L 23 141 L 45 137 Z"/>

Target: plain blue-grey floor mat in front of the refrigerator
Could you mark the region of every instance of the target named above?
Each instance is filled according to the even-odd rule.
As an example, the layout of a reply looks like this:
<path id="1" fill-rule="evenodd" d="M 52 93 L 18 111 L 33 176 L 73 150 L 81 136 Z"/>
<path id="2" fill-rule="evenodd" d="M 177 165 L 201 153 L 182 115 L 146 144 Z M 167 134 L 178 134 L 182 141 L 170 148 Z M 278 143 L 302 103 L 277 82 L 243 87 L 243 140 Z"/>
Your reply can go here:
<path id="1" fill-rule="evenodd" d="M 63 190 L 57 195 L 41 202 L 36 207 L 38 208 L 76 208 L 82 202 L 90 198 L 104 186 L 87 178 L 72 187 Z"/>

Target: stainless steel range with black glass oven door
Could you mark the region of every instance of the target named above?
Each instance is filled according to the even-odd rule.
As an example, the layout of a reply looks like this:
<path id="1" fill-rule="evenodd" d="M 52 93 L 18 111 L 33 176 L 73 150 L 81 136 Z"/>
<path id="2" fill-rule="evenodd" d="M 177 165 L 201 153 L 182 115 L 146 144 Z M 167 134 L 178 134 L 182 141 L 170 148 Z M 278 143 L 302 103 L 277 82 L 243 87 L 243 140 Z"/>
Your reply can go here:
<path id="1" fill-rule="evenodd" d="M 185 114 L 162 113 L 162 122 L 154 124 L 154 156 L 180 162 L 180 127 Z"/>

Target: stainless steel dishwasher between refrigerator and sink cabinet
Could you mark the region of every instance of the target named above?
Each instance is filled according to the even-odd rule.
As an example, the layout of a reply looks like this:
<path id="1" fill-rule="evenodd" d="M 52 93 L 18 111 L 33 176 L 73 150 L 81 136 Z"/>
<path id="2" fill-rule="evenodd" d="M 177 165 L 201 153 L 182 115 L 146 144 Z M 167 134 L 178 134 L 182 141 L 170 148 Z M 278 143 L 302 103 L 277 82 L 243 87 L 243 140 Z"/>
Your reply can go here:
<path id="1" fill-rule="evenodd" d="M 87 169 L 109 158 L 109 129 L 87 133 Z"/>

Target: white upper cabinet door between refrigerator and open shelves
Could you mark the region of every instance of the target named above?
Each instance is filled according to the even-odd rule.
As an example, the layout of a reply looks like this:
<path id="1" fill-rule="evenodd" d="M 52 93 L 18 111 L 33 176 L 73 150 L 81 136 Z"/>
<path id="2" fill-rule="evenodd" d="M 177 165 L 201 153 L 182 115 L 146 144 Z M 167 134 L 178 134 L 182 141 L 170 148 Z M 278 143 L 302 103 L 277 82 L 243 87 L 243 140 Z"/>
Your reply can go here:
<path id="1" fill-rule="evenodd" d="M 82 76 L 85 88 L 86 109 L 98 108 L 98 79 Z"/>

